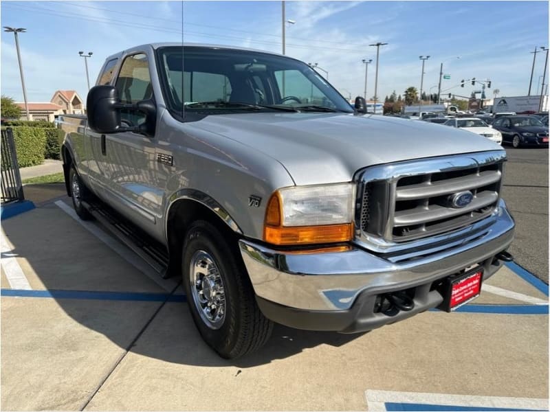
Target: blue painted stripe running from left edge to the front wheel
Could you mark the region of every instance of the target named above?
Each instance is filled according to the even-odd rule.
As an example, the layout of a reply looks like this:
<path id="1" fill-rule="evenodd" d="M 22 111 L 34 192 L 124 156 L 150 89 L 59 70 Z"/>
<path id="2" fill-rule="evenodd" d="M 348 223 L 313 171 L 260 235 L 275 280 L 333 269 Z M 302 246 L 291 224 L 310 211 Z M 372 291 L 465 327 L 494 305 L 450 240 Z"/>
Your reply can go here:
<path id="1" fill-rule="evenodd" d="M 114 301 L 185 302 L 184 295 L 167 293 L 94 292 L 89 290 L 19 290 L 1 289 L 1 296 L 46 297 L 54 299 L 91 299 Z"/>

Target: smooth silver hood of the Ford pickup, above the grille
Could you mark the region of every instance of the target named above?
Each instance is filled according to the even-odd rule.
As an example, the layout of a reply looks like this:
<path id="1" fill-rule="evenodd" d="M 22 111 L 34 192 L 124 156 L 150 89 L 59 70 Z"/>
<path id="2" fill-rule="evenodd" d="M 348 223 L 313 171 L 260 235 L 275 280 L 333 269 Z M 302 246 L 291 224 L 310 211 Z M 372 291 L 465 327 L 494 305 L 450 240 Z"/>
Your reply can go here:
<path id="1" fill-rule="evenodd" d="M 296 185 L 351 181 L 357 170 L 382 163 L 502 150 L 464 130 L 381 115 L 247 113 L 192 124 L 261 150 Z"/>

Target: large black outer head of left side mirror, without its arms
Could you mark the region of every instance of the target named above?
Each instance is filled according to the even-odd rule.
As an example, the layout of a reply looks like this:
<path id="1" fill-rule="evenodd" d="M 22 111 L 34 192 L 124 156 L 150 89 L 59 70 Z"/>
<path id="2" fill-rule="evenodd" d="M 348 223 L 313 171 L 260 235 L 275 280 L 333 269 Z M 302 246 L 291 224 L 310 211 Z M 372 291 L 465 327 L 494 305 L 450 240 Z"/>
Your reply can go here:
<path id="1" fill-rule="evenodd" d="M 94 86 L 86 99 L 88 126 L 96 133 L 116 133 L 120 130 L 118 93 L 114 86 Z"/>

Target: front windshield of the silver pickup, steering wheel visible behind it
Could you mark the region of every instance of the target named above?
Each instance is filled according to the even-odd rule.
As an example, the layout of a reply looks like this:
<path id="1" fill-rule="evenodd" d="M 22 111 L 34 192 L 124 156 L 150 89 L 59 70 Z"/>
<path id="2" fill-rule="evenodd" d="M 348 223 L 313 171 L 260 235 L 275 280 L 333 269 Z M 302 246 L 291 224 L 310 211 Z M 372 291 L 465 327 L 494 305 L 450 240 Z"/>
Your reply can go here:
<path id="1" fill-rule="evenodd" d="M 213 47 L 157 50 L 171 111 L 227 114 L 243 111 L 342 111 L 350 104 L 308 65 L 261 52 Z M 182 73 L 182 67 L 183 73 Z"/>

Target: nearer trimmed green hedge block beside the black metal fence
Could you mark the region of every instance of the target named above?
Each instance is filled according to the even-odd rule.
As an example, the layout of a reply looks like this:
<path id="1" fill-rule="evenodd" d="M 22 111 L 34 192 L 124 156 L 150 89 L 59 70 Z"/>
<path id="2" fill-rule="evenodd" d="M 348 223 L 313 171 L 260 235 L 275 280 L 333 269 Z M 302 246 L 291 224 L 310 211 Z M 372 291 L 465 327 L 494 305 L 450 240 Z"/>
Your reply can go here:
<path id="1" fill-rule="evenodd" d="M 46 134 L 43 128 L 13 127 L 15 150 L 20 168 L 44 163 Z"/>

